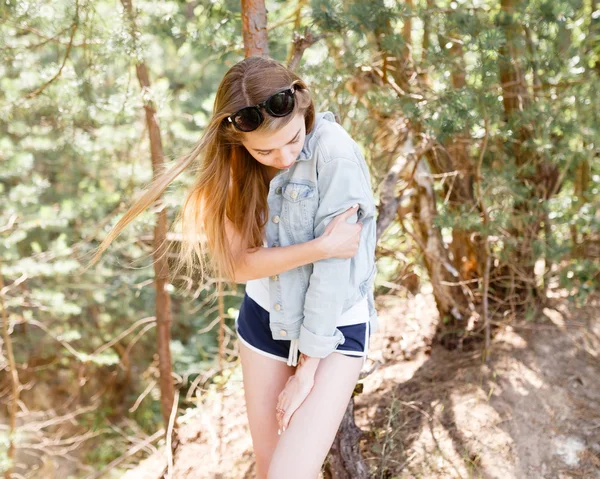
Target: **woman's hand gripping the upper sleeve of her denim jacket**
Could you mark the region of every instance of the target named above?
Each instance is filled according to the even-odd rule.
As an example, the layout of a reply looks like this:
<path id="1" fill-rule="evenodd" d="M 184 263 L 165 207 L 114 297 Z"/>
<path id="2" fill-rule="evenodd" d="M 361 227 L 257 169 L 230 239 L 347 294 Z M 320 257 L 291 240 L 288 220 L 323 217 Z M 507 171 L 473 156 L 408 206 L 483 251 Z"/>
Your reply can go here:
<path id="1" fill-rule="evenodd" d="M 358 211 L 352 206 L 333 218 L 318 241 L 325 258 L 352 258 L 358 252 L 362 223 L 346 223 Z"/>

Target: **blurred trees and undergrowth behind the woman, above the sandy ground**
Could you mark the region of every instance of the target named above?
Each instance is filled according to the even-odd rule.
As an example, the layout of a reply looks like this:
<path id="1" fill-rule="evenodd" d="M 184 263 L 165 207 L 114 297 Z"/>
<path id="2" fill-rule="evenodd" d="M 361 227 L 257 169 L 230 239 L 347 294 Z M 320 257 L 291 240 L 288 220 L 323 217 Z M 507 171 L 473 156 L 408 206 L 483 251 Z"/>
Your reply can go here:
<path id="1" fill-rule="evenodd" d="M 190 175 L 98 265 L 82 267 L 152 178 L 144 105 L 156 110 L 168 167 L 198 138 L 222 75 L 244 57 L 242 15 L 237 1 L 133 7 L 134 39 L 118 2 L 0 6 L 0 464 L 9 467 L 14 443 L 15 472 L 29 477 L 99 470 L 164 427 L 153 228 L 157 211 L 171 224 Z M 581 304 L 597 289 L 594 0 L 266 7 L 273 58 L 296 58 L 295 34 L 318 37 L 295 71 L 370 164 L 377 291 L 429 288 L 443 319 L 438 339 L 454 348 L 481 344 L 500 321 L 531 318 L 549 291 Z M 144 90 L 140 63 L 151 79 Z M 218 325 L 221 356 L 234 361 L 243 285 L 220 308 L 214 282 L 177 277 L 167 290 L 185 408 L 231 373 L 219 368 Z"/>

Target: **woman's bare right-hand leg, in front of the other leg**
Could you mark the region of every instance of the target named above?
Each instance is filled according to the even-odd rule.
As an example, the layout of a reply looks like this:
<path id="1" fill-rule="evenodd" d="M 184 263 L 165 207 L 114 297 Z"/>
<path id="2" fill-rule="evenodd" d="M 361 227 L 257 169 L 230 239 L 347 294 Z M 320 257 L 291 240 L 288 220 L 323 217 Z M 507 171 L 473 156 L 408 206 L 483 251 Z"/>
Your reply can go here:
<path id="1" fill-rule="evenodd" d="M 316 479 L 340 427 L 363 365 L 333 352 L 321 359 L 315 384 L 281 434 L 268 479 Z"/>

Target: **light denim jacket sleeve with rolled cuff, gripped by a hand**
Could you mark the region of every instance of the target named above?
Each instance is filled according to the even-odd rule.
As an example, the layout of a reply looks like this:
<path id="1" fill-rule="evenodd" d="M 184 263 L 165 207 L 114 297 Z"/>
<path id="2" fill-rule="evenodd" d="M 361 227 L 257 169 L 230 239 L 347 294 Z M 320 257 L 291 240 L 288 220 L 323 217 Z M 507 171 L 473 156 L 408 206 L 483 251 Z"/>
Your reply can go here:
<path id="1" fill-rule="evenodd" d="M 325 163 L 318 171 L 318 190 L 315 238 L 323 234 L 333 218 L 355 203 L 361 212 L 373 208 L 371 187 L 357 158 L 333 158 Z M 354 213 L 346 221 L 356 223 L 358 217 Z M 324 358 L 344 343 L 345 337 L 336 325 L 348 295 L 351 260 L 327 258 L 313 263 L 298 340 L 300 352 Z"/>

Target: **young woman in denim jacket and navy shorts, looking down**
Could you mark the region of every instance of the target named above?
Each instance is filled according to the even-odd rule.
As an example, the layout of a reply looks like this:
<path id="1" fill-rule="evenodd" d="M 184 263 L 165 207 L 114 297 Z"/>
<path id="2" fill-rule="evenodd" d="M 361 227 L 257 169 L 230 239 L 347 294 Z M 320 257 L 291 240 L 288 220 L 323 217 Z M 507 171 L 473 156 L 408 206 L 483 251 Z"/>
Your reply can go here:
<path id="1" fill-rule="evenodd" d="M 225 74 L 192 152 L 155 180 L 92 259 L 196 158 L 175 272 L 246 282 L 236 332 L 258 478 L 316 478 L 377 330 L 375 204 L 358 145 L 268 57 Z M 208 249 L 205 259 L 203 232 Z"/>

